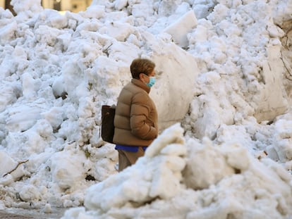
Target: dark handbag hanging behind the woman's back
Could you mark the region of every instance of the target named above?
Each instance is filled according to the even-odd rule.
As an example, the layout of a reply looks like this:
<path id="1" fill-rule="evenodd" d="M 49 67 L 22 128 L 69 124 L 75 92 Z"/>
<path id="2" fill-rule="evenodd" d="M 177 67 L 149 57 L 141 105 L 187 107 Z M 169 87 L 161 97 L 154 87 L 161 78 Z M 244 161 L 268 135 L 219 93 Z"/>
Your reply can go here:
<path id="1" fill-rule="evenodd" d="M 104 142 L 114 144 L 114 114 L 115 106 L 102 106 L 102 139 Z"/>

